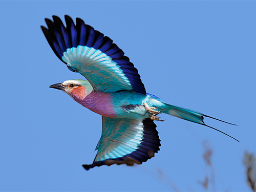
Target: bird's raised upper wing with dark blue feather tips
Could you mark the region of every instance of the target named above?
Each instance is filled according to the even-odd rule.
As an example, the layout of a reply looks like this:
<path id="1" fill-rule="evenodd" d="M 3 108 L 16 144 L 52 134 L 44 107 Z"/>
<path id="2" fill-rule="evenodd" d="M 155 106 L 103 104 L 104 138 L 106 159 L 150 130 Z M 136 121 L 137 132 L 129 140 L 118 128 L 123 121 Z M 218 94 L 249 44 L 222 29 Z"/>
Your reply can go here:
<path id="1" fill-rule="evenodd" d="M 45 20 L 48 29 L 44 26 L 41 29 L 54 53 L 71 71 L 86 77 L 95 90 L 134 90 L 146 94 L 138 70 L 109 37 L 84 24 L 80 18 L 76 18 L 75 25 L 72 18 L 65 15 L 67 27 L 57 16 L 53 16 L 53 22 Z"/>

